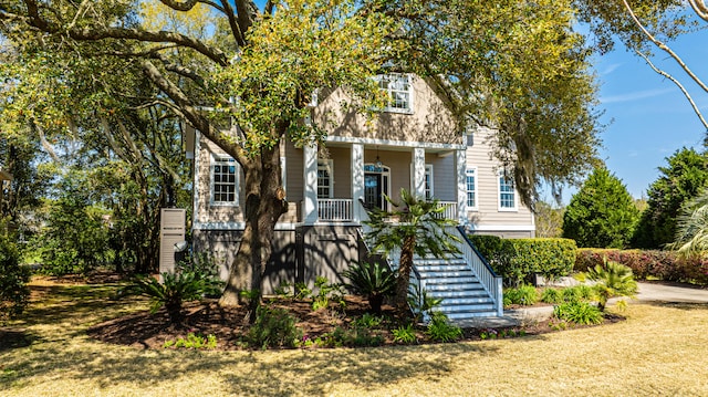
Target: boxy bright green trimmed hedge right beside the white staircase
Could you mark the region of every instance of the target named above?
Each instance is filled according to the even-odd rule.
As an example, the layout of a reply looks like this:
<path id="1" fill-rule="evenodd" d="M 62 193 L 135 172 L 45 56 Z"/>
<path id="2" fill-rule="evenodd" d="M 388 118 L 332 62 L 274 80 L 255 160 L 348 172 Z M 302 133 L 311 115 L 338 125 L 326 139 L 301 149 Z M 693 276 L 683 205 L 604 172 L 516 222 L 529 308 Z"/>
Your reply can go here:
<path id="1" fill-rule="evenodd" d="M 471 234 L 469 239 L 506 285 L 530 282 L 533 274 L 551 280 L 568 275 L 576 260 L 577 247 L 570 239 L 501 239 L 481 234 Z"/>

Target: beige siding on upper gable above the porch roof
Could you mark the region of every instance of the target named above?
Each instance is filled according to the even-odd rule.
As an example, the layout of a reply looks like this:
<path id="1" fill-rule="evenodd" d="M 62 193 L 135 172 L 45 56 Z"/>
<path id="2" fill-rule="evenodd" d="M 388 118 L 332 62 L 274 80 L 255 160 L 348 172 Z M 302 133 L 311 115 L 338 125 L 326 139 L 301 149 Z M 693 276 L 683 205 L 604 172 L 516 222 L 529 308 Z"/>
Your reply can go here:
<path id="1" fill-rule="evenodd" d="M 405 142 L 461 143 L 457 125 L 445 103 L 428 83 L 412 76 L 412 114 L 383 113 L 374 123 L 366 116 L 346 109 L 348 97 L 336 88 L 321 93 L 313 122 L 329 134 L 343 137 L 368 137 Z"/>

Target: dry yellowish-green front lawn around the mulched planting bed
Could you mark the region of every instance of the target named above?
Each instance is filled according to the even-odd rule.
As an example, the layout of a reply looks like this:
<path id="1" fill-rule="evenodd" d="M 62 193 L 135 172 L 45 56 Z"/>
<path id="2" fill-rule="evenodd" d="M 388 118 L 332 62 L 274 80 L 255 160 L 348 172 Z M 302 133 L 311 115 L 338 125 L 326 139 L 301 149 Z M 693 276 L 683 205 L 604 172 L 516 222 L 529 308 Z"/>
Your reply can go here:
<path id="1" fill-rule="evenodd" d="M 37 285 L 34 285 L 37 289 Z M 385 348 L 144 351 L 85 336 L 147 309 L 116 286 L 44 285 L 31 335 L 0 351 L 2 396 L 708 395 L 708 305 L 631 304 L 614 325 L 541 336 Z"/>

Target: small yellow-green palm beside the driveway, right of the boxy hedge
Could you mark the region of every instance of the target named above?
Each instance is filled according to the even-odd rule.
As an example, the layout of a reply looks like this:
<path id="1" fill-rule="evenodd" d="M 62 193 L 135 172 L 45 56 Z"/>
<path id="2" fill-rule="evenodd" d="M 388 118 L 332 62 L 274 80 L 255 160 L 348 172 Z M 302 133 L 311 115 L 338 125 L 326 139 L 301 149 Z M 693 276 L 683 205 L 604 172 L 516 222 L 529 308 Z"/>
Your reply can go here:
<path id="1" fill-rule="evenodd" d="M 597 293 L 597 309 L 605 311 L 607 300 L 612 296 L 634 297 L 637 293 L 637 282 L 634 280 L 632 269 L 615 261 L 604 260 L 604 265 L 597 264 L 584 274 L 587 280 L 595 281 Z M 582 278 L 582 276 L 581 276 Z"/>

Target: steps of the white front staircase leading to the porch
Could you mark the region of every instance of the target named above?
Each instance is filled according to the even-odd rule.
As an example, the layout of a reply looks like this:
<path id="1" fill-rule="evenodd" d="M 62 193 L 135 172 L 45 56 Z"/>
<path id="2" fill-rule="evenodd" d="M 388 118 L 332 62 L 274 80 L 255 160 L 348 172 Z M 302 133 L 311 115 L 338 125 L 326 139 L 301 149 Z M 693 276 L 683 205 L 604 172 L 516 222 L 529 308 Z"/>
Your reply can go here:
<path id="1" fill-rule="evenodd" d="M 442 300 L 436 310 L 448 318 L 459 321 L 498 315 L 494 299 L 465 258 L 416 259 L 414 268 L 427 295 Z"/>

